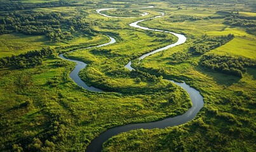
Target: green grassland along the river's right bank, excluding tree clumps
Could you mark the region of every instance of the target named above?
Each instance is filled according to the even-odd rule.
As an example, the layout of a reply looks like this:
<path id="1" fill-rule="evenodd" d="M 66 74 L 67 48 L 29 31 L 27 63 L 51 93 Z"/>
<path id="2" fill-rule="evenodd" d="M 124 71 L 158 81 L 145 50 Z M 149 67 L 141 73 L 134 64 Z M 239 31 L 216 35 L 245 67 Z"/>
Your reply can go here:
<path id="1" fill-rule="evenodd" d="M 163 9 L 163 4 L 161 6 Z M 194 9 L 177 8 L 165 11 L 168 14 L 165 18 L 143 22 L 141 25 L 182 32 L 188 37 L 187 43 L 149 56 L 137 68 L 154 74 L 161 70 L 164 73 L 157 75 L 185 80 L 204 96 L 205 108 L 192 122 L 179 127 L 134 130 L 112 137 L 105 143 L 104 151 L 253 151 L 256 70 L 250 68 L 239 79 L 205 70 L 198 65 L 201 56 L 192 56 L 178 64 L 171 63 L 170 56 L 177 51 L 188 53 L 194 39 L 202 35 L 234 34 L 232 41 L 208 53 L 255 59 L 256 37 L 246 34 L 242 28 L 227 27 L 219 19 L 172 22 L 174 15 L 206 17 L 215 15 L 214 11 L 199 13 Z"/>

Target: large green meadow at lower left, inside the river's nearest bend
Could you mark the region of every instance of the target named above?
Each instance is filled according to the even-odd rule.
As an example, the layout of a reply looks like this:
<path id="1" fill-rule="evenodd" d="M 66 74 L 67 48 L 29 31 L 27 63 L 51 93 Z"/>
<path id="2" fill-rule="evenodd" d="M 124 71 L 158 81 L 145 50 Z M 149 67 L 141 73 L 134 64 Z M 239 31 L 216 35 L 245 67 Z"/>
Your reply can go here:
<path id="1" fill-rule="evenodd" d="M 12 149 L 15 143 L 30 149 L 30 141 L 35 137 L 42 142 L 47 137 L 55 143 L 56 150 L 83 151 L 89 141 L 109 127 L 157 120 L 187 109 L 184 99 L 180 100 L 180 108 L 178 105 L 163 107 L 166 99 L 160 91 L 133 95 L 85 91 L 69 79 L 67 73 L 74 64 L 58 67 L 58 61 L 58 58 L 48 58 L 42 66 L 26 71 L 1 70 L 1 111 L 4 111 L 1 149 Z M 27 77 L 29 84 L 20 88 L 18 80 Z M 29 105 L 25 105 L 25 101 L 29 101 Z"/>

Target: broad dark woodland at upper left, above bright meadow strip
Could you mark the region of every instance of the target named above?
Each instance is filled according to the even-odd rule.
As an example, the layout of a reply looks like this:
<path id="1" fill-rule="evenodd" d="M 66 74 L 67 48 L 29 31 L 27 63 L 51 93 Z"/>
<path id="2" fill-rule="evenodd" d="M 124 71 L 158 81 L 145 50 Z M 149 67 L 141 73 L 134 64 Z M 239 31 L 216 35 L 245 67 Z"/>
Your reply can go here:
<path id="1" fill-rule="evenodd" d="M 46 35 L 50 42 L 72 39 L 76 30 L 95 35 L 93 23 L 82 18 L 69 18 L 65 13 L 43 11 L 13 11 L 0 13 L 0 34 L 20 32 L 26 35 Z"/>

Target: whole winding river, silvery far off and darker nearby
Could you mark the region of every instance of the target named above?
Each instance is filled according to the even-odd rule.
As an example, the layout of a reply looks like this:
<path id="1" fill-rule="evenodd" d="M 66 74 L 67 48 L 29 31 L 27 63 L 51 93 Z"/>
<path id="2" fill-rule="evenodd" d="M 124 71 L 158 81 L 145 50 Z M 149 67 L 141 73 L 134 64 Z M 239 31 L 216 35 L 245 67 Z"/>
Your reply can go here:
<path id="1" fill-rule="evenodd" d="M 145 8 L 152 8 L 152 6 L 145 7 Z M 100 13 L 100 11 L 109 10 L 109 9 L 113 9 L 113 8 L 97 9 L 97 13 L 99 13 L 100 15 L 104 15 L 104 14 Z M 155 16 L 154 18 L 159 18 L 159 17 L 165 15 L 165 13 L 162 13 L 162 12 L 160 12 L 160 13 L 161 13 L 161 15 Z M 104 16 L 107 16 L 107 15 L 104 15 Z M 107 17 L 114 17 L 114 16 L 107 16 Z M 153 19 L 153 18 L 149 18 L 149 19 L 145 19 L 145 20 L 151 20 L 151 19 Z M 170 47 L 175 47 L 179 44 L 183 44 L 186 41 L 186 37 L 182 34 L 176 34 L 174 32 L 152 29 L 152 28 L 147 28 L 147 27 L 141 27 L 140 25 L 137 25 L 138 23 L 144 22 L 145 20 L 139 20 L 137 22 L 130 23 L 130 26 L 136 27 L 136 28 L 141 28 L 143 30 L 152 30 L 152 31 L 156 31 L 156 32 L 170 33 L 170 34 L 177 36 L 178 41 L 175 42 L 174 44 L 170 44 L 170 45 L 162 47 L 160 49 L 156 49 L 156 50 L 152 51 L 151 53 L 144 54 L 138 58 L 139 60 L 142 60 L 151 54 L 158 53 L 159 51 L 163 51 Z M 111 42 L 109 42 L 107 44 L 102 44 L 100 46 L 95 46 L 95 47 L 107 46 L 109 44 L 113 44 L 114 42 L 116 42 L 112 37 L 110 37 L 110 38 L 111 38 Z M 91 47 L 87 47 L 87 48 L 89 49 Z M 77 63 L 76 68 L 70 73 L 71 79 L 74 80 L 74 82 L 76 82 L 77 85 L 84 87 L 84 89 L 88 89 L 89 91 L 98 91 L 98 92 L 102 91 L 101 89 L 98 89 L 95 87 L 89 87 L 78 76 L 79 71 L 82 70 L 87 65 L 86 63 L 83 63 L 83 62 L 77 61 L 77 60 L 67 59 L 63 55 L 64 54 L 60 54 L 59 55 L 60 58 L 63 58 L 64 60 L 74 61 Z M 131 67 L 131 61 L 127 65 L 125 65 L 125 67 L 128 68 L 129 70 L 133 70 L 133 68 Z M 201 96 L 199 91 L 197 91 L 196 89 L 185 84 L 185 82 L 179 83 L 179 82 L 174 82 L 173 80 L 169 80 L 169 81 L 179 85 L 180 87 L 185 89 L 185 91 L 187 91 L 187 93 L 189 94 L 191 101 L 192 101 L 192 107 L 189 108 L 188 111 L 186 111 L 183 115 L 179 115 L 179 116 L 173 117 L 173 118 L 165 118 L 163 120 L 159 120 L 156 122 L 129 124 L 129 125 L 123 125 L 123 126 L 111 128 L 109 130 L 106 130 L 102 134 L 100 134 L 95 139 L 93 139 L 93 141 L 91 141 L 91 143 L 87 146 L 86 151 L 89 151 L 89 152 L 101 151 L 102 144 L 105 141 L 107 141 L 107 139 L 109 139 L 112 136 L 115 136 L 121 132 L 128 132 L 128 131 L 134 130 L 134 129 L 157 129 L 157 128 L 165 129 L 166 127 L 172 127 L 175 125 L 185 124 L 186 122 L 189 122 L 194 117 L 196 117 L 196 114 L 199 112 L 199 110 L 201 110 L 201 108 L 203 108 L 203 97 Z"/>

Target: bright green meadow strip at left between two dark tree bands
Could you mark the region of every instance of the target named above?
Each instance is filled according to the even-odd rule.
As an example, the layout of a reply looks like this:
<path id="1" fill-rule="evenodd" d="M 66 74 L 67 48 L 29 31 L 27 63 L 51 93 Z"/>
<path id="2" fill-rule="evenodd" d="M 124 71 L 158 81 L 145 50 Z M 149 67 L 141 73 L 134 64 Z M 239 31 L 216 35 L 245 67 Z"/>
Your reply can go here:
<path id="1" fill-rule="evenodd" d="M 0 35 L 1 57 L 18 55 L 27 51 L 38 50 L 42 47 L 72 47 L 83 46 L 88 44 L 100 44 L 109 41 L 106 36 L 98 35 L 97 37 L 83 36 L 76 37 L 71 41 L 50 42 L 45 36 L 33 36 L 24 34 L 4 34 Z"/>

